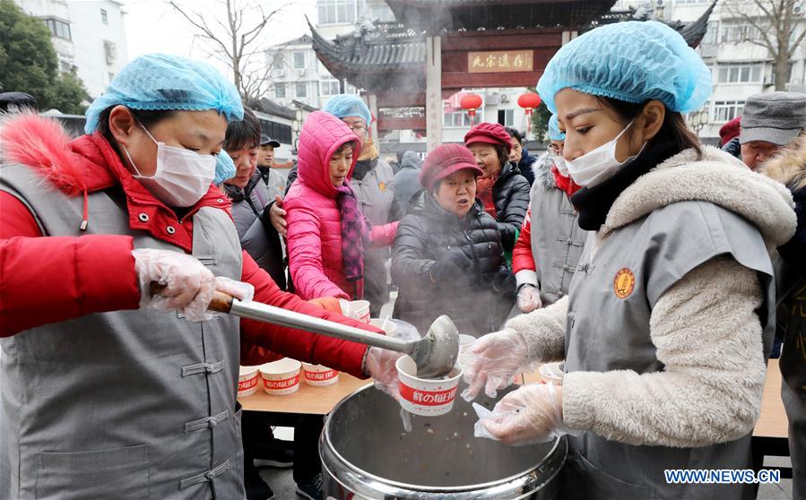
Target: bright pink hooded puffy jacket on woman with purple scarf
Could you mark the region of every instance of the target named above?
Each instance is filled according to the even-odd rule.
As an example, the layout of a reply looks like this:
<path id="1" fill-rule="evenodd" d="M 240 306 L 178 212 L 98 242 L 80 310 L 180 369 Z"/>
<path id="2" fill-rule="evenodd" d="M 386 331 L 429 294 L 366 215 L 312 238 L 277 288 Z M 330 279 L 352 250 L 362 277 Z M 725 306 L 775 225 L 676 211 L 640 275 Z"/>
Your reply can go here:
<path id="1" fill-rule="evenodd" d="M 363 280 L 350 282 L 342 272 L 342 218 L 336 205 L 336 188 L 330 182 L 330 157 L 358 136 L 333 115 L 316 111 L 308 116 L 299 133 L 298 176 L 283 201 L 288 211 L 289 270 L 294 289 L 306 300 L 363 296 Z M 360 155 L 352 152 L 349 183 Z M 397 223 L 372 228 L 373 246 L 394 242 Z"/>

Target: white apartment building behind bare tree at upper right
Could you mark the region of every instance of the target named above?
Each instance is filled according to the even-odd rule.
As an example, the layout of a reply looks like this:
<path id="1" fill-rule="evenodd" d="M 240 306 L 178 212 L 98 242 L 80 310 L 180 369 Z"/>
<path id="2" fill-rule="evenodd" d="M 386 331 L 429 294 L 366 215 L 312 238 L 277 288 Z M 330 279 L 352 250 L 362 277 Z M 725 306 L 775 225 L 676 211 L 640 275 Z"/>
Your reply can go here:
<path id="1" fill-rule="evenodd" d="M 691 22 L 704 13 L 712 0 L 621 0 L 619 6 L 640 5 L 654 8 L 664 19 Z M 708 21 L 706 38 L 698 47 L 699 54 L 711 69 L 714 92 L 704 109 L 708 122 L 699 131 L 704 140 L 712 142 L 719 136 L 719 127 L 735 116 L 741 116 L 744 101 L 758 92 L 775 91 L 775 73 L 772 57 L 766 47 L 750 40 L 758 39 L 758 30 L 743 20 L 738 12 L 751 13 L 750 0 L 720 0 Z M 806 29 L 806 2 L 796 5 L 796 22 L 799 24 L 793 39 Z M 806 92 L 806 43 L 795 50 L 792 75 L 787 90 Z"/>

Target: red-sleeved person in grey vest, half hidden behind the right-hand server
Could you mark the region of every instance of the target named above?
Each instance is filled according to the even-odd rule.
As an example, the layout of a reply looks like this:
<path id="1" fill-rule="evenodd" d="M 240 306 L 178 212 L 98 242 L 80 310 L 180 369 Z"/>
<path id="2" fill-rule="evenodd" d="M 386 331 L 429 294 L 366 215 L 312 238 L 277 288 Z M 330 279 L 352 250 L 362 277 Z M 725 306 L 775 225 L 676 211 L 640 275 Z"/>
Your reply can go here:
<path id="1" fill-rule="evenodd" d="M 571 195 L 579 186 L 568 177 L 557 116 L 549 120 L 549 150 L 533 164 L 534 183 L 524 228 L 512 251 L 517 307 L 522 313 L 554 304 L 568 286 L 582 255 L 587 231 L 576 223 Z"/>

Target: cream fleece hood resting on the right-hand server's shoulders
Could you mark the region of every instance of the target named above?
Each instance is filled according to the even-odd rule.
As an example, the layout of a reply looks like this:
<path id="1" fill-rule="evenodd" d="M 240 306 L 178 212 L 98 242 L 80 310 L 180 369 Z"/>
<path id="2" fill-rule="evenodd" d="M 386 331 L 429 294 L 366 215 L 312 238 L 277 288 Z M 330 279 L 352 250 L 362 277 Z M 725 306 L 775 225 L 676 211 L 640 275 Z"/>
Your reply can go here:
<path id="1" fill-rule="evenodd" d="M 780 246 L 794 233 L 793 198 L 784 185 L 747 168 L 716 148 L 682 151 L 639 177 L 613 203 L 599 230 L 613 230 L 672 203 L 714 203 L 753 223 L 768 245 Z"/>

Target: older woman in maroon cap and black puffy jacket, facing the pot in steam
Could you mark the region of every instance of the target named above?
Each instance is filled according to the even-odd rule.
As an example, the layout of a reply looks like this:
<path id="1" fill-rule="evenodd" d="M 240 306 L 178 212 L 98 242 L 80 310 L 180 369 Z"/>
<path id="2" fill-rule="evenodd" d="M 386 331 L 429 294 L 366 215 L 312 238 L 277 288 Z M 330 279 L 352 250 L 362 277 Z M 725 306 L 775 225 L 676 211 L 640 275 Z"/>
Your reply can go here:
<path id="1" fill-rule="evenodd" d="M 401 220 L 392 252 L 394 317 L 420 332 L 440 315 L 450 316 L 459 332 L 490 332 L 512 304 L 498 224 L 475 200 L 481 175 L 459 144 L 431 151 L 420 170 L 425 189 Z"/>

